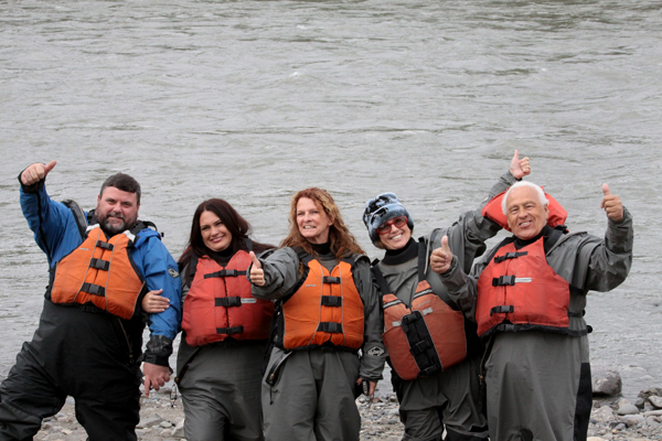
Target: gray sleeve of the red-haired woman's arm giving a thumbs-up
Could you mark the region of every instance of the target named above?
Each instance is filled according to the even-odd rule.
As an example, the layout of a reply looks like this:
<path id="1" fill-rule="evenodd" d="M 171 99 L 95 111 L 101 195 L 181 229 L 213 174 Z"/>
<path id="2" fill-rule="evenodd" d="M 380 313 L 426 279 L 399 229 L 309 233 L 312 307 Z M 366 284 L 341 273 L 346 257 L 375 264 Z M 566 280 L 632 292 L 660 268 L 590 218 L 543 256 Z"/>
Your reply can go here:
<path id="1" fill-rule="evenodd" d="M 258 287 L 252 282 L 253 295 L 263 300 L 278 300 L 290 294 L 299 281 L 299 256 L 291 248 L 280 248 L 266 258 L 258 257 L 265 271 L 265 284 Z M 246 278 L 250 281 L 250 267 Z"/>

